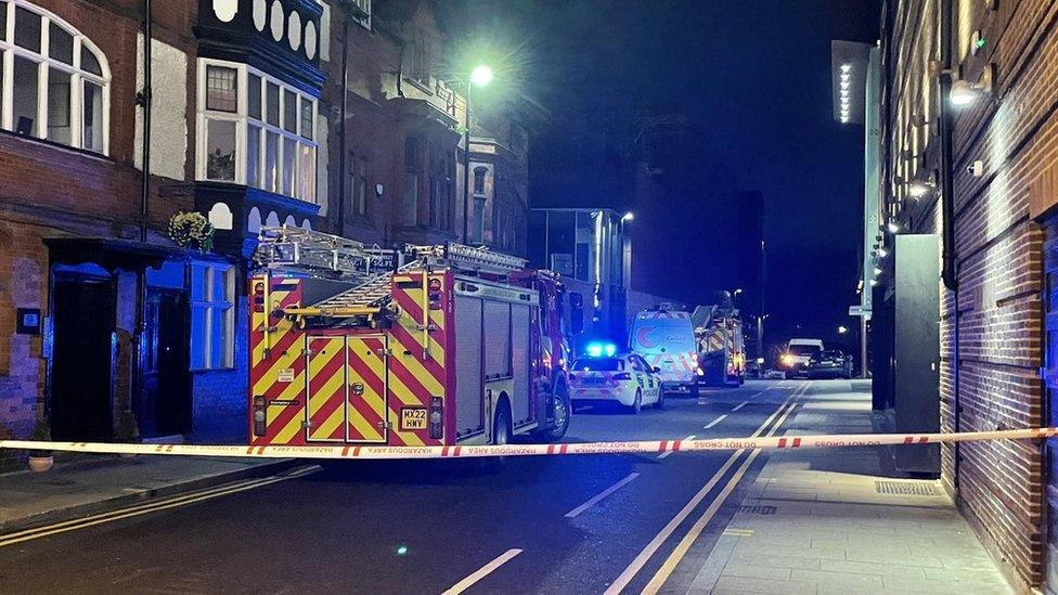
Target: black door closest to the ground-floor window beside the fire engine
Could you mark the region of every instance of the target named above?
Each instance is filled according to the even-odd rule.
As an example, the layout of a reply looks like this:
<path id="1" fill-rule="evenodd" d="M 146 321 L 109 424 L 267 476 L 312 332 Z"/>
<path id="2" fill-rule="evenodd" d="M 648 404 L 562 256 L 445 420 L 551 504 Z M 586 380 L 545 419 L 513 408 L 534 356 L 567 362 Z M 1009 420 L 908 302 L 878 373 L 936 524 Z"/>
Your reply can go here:
<path id="1" fill-rule="evenodd" d="M 151 289 L 144 308 L 143 394 L 137 406 L 140 436 L 191 431 L 188 295 Z"/>

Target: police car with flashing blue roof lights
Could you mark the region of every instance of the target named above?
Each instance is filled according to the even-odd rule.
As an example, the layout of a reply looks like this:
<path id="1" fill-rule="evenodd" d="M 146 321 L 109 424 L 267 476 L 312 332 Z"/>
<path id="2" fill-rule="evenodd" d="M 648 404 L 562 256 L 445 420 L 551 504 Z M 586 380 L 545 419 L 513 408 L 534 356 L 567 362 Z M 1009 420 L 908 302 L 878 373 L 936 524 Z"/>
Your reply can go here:
<path id="1" fill-rule="evenodd" d="M 611 402 L 638 413 L 643 405 L 661 409 L 665 394 L 657 370 L 635 353 L 617 353 L 611 345 L 592 344 L 585 357 L 569 371 L 569 398 L 573 403 Z"/>

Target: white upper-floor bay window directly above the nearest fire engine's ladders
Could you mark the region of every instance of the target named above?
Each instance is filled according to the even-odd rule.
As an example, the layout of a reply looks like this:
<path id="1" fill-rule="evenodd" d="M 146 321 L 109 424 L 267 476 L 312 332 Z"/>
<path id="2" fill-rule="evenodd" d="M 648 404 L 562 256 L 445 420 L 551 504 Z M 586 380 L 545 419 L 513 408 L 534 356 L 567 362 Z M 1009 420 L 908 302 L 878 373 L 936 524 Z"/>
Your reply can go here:
<path id="1" fill-rule="evenodd" d="M 317 98 L 235 62 L 198 61 L 199 180 L 315 202 Z"/>

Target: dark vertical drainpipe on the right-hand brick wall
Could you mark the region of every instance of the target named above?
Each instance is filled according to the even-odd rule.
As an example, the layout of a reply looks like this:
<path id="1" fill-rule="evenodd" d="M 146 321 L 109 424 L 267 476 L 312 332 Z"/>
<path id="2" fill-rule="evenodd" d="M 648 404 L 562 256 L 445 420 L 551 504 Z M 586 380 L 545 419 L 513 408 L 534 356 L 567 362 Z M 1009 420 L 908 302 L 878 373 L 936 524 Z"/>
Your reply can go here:
<path id="1" fill-rule="evenodd" d="M 941 189 L 941 218 L 943 236 L 941 245 L 941 279 L 944 287 L 955 293 L 955 321 L 953 338 L 953 370 L 952 370 L 952 401 L 954 405 L 954 430 L 957 434 L 960 428 L 959 413 L 959 314 L 958 314 L 958 255 L 955 250 L 955 183 L 953 169 L 955 167 L 953 150 L 953 114 L 949 103 L 952 90 L 952 78 L 954 60 L 952 55 L 952 26 L 954 24 L 953 0 L 941 2 L 941 62 L 945 74 L 940 77 L 940 160 L 941 170 L 938 182 Z M 958 490 L 959 483 L 959 444 L 955 444 L 955 489 Z"/>

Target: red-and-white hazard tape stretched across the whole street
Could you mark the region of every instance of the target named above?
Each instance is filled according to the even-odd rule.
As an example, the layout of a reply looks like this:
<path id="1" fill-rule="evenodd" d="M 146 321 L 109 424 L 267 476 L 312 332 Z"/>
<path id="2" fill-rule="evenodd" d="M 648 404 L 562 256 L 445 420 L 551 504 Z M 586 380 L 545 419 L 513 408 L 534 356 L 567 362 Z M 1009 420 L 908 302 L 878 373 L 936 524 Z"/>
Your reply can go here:
<path id="1" fill-rule="evenodd" d="M 1058 428 L 1032 428 L 962 434 L 844 434 L 705 440 L 640 440 L 564 444 L 504 444 L 479 447 L 238 447 L 225 444 L 124 444 L 109 442 L 43 442 L 0 440 L 0 450 L 66 451 L 99 454 L 162 454 L 180 456 L 238 456 L 251 458 L 472 458 L 487 456 L 554 456 L 571 454 L 629 454 L 663 452 L 737 451 L 743 449 L 833 449 L 984 440 L 1036 440 L 1058 436 Z"/>

